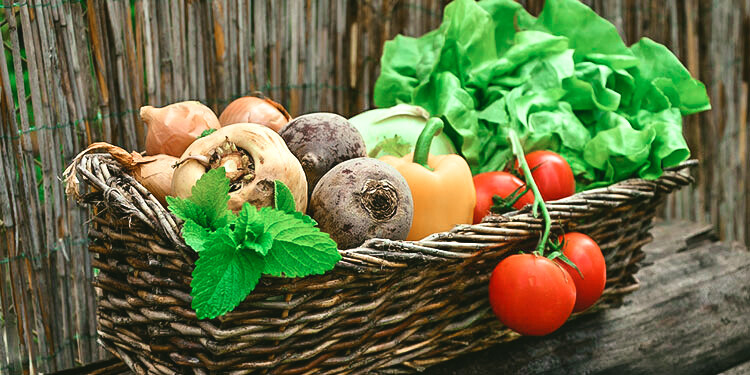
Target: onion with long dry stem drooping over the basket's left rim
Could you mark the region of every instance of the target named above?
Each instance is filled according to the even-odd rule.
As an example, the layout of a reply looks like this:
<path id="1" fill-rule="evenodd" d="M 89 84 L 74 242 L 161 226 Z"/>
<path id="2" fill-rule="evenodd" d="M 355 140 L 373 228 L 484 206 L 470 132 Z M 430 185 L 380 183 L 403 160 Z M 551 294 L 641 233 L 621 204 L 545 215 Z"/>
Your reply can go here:
<path id="1" fill-rule="evenodd" d="M 140 182 L 154 197 L 166 207 L 165 197 L 172 195 L 172 175 L 174 174 L 174 165 L 177 158 L 170 155 L 153 155 L 142 156 L 137 152 L 127 152 L 120 147 L 111 145 L 106 142 L 92 143 L 85 150 L 76 156 L 73 163 L 65 170 L 66 192 L 68 194 L 78 195 L 78 181 L 75 174 L 72 174 L 74 167 L 81 161 L 83 155 L 93 151 L 105 151 L 112 155 L 125 172 L 133 176 L 136 181 Z"/>

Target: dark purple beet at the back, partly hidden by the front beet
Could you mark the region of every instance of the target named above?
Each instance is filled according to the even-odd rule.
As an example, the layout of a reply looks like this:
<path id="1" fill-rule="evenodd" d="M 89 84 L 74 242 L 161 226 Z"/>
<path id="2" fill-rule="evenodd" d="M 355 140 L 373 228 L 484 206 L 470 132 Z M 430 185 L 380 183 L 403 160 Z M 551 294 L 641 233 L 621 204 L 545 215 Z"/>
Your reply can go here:
<path id="1" fill-rule="evenodd" d="M 286 124 L 279 134 L 299 159 L 307 177 L 307 193 L 337 164 L 366 156 L 365 141 L 346 118 L 335 113 L 309 113 Z"/>

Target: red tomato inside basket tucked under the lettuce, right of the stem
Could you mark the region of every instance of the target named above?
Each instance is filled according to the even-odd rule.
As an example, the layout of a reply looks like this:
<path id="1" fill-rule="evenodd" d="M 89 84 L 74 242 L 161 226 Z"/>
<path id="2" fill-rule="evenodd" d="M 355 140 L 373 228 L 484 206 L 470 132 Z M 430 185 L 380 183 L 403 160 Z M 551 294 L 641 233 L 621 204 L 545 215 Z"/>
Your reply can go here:
<path id="1" fill-rule="evenodd" d="M 526 163 L 529 164 L 531 177 L 534 178 L 539 194 L 545 202 L 575 194 L 576 180 L 573 170 L 562 156 L 552 151 L 534 151 L 526 155 Z M 520 171 L 518 161 L 516 170 Z"/>

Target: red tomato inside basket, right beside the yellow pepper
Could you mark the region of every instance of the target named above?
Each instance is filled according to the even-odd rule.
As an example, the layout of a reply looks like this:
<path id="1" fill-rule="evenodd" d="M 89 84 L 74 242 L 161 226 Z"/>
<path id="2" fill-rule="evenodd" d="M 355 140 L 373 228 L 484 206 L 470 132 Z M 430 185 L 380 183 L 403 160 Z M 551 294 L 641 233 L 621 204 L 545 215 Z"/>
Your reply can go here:
<path id="1" fill-rule="evenodd" d="M 474 176 L 474 188 L 477 190 L 477 204 L 474 206 L 474 224 L 476 224 L 490 213 L 493 196 L 499 195 L 507 198 L 519 188 L 520 193 L 524 189 L 524 183 L 508 172 L 486 172 Z M 513 207 L 520 210 L 523 206 L 532 203 L 534 203 L 534 195 L 531 191 L 527 191 Z"/>

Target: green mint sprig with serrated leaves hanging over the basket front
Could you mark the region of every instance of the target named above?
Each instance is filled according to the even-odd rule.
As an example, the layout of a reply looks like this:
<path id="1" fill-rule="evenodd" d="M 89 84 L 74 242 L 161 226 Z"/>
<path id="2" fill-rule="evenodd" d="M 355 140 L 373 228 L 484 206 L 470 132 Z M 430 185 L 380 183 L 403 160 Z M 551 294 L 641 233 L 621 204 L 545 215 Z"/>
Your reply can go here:
<path id="1" fill-rule="evenodd" d="M 184 221 L 182 238 L 198 253 L 190 295 L 198 319 L 234 310 L 261 275 L 304 277 L 331 270 L 341 259 L 336 243 L 317 223 L 296 210 L 294 196 L 274 183 L 275 208 L 245 203 L 227 208 L 229 179 L 223 168 L 204 174 L 187 199 L 167 197 L 169 210 Z"/>

